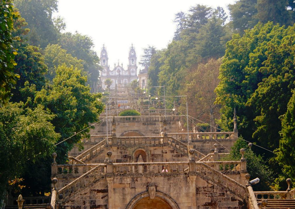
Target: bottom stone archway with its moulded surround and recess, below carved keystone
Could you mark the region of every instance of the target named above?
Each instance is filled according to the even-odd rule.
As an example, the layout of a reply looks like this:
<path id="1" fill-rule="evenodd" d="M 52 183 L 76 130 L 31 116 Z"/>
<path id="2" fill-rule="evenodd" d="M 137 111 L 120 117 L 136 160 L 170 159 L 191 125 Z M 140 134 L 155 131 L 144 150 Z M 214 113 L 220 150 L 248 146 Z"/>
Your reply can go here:
<path id="1" fill-rule="evenodd" d="M 158 204 L 159 207 L 156 207 Z M 165 209 L 179 209 L 177 203 L 165 193 L 155 191 L 154 196 L 150 198 L 150 193 L 143 192 L 136 195 L 128 203 L 126 209 L 155 209 L 155 208 L 165 208 Z"/>

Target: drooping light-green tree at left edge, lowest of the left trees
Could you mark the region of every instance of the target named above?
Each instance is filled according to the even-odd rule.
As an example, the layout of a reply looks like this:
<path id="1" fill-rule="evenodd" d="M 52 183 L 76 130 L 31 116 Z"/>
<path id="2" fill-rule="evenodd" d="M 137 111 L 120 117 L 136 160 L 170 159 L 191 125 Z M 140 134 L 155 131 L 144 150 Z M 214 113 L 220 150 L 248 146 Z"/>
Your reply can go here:
<path id="1" fill-rule="evenodd" d="M 53 152 L 60 138 L 50 123 L 54 117 L 43 105 L 32 109 L 22 102 L 9 102 L 0 108 L 0 199 L 8 189 L 8 181 L 21 178 L 28 169 L 27 162 Z"/>

